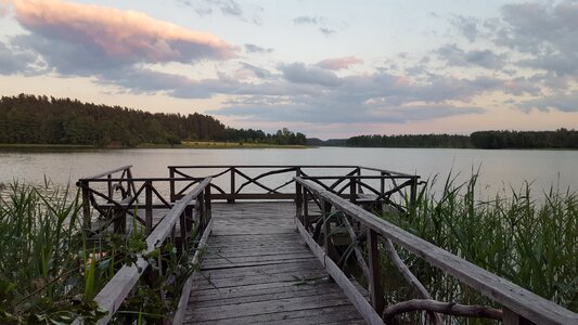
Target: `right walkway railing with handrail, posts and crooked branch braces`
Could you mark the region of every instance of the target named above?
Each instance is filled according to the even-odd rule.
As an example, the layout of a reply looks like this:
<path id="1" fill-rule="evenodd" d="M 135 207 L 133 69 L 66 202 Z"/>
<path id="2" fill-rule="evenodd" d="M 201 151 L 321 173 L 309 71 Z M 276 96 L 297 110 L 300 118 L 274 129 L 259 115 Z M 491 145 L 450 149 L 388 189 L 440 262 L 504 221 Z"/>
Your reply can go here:
<path id="1" fill-rule="evenodd" d="M 295 181 L 296 223 L 299 232 L 369 323 L 382 324 L 384 318 L 391 321 L 397 313 L 408 310 L 426 310 L 434 324 L 441 323 L 439 313 L 501 320 L 506 325 L 531 324 L 530 322 L 578 324 L 578 314 L 377 218 L 335 194 L 331 187 L 300 177 L 296 177 Z M 318 204 L 320 213 L 311 213 L 310 200 Z M 354 256 L 368 284 L 369 302 L 343 272 L 344 257 L 339 256 L 331 237 L 335 234 L 337 224 L 346 229 L 352 243 Z M 502 309 L 433 300 L 426 288 L 399 258 L 394 244 L 486 296 Z M 382 272 L 380 260 L 385 256 L 422 299 L 385 308 L 382 278 L 387 274 Z"/>

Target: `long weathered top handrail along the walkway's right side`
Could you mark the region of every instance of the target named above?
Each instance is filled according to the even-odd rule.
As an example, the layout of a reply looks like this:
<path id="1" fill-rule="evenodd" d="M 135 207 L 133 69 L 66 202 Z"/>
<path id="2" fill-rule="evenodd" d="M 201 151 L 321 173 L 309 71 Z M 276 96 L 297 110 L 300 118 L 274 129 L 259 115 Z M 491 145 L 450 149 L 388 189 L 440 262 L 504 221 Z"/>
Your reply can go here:
<path id="1" fill-rule="evenodd" d="M 510 311 L 538 324 L 578 324 L 578 314 L 380 219 L 309 180 L 296 177 L 295 181 L 304 190 L 332 205 L 336 210 L 354 218 L 355 221 L 360 222 L 372 232 L 408 249 Z M 298 206 L 297 209 L 300 207 Z"/>

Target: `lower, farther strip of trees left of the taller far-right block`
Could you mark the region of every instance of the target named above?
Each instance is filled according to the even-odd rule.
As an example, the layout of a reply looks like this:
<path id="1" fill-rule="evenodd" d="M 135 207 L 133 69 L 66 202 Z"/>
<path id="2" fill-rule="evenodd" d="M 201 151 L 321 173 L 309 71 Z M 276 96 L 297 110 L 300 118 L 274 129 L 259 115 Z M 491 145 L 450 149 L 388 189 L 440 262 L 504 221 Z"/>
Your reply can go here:
<path id="1" fill-rule="evenodd" d="M 467 135 L 415 134 L 415 135 L 359 135 L 347 140 L 347 146 L 363 147 L 472 147 Z"/>

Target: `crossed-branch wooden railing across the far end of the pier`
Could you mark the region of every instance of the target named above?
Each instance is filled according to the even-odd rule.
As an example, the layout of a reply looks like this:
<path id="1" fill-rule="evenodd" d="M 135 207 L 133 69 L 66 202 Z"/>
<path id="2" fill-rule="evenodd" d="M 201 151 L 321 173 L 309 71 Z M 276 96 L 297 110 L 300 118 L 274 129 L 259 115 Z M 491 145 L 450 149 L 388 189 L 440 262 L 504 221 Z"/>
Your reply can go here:
<path id="1" fill-rule="evenodd" d="M 177 199 L 191 184 L 179 179 L 213 178 L 214 199 L 296 199 L 294 177 L 309 179 L 324 188 L 358 202 L 389 200 L 401 195 L 415 199 L 419 176 L 361 166 L 169 166 L 170 197 Z M 372 183 L 373 182 L 373 183 Z M 406 187 L 409 191 L 404 191 Z M 406 197 L 406 193 L 409 193 Z"/>

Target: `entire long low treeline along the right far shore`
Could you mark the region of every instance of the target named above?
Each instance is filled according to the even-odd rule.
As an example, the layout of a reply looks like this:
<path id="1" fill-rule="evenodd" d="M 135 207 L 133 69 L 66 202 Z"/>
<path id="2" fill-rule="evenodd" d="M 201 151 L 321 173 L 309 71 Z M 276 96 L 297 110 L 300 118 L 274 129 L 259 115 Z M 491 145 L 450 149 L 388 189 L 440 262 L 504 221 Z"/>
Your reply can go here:
<path id="1" fill-rule="evenodd" d="M 449 147 L 449 148 L 578 148 L 578 131 L 478 131 L 470 135 L 360 135 L 347 140 L 359 147 Z"/>

